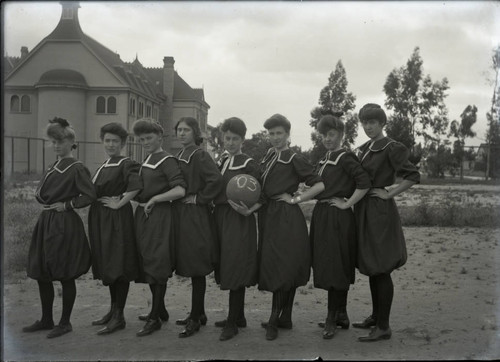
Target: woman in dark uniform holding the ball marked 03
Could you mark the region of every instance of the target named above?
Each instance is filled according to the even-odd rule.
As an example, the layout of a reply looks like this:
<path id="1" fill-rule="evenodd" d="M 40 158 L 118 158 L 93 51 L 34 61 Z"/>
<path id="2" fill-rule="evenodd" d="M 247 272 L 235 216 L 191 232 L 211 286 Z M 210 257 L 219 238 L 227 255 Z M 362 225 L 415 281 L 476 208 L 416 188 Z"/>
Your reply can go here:
<path id="1" fill-rule="evenodd" d="M 245 288 L 257 284 L 257 224 L 255 217 L 240 214 L 226 197 L 226 186 L 240 174 L 259 177 L 259 165 L 241 152 L 247 131 L 245 123 L 236 117 L 226 119 L 221 126 L 225 152 L 217 165 L 222 173 L 223 187 L 215 198 L 215 221 L 220 250 L 216 280 L 222 290 L 229 290 L 227 319 L 215 322 L 223 327 L 220 340 L 238 334 L 238 327 L 246 327 L 244 313 Z M 239 210 L 236 208 L 236 210 Z"/>

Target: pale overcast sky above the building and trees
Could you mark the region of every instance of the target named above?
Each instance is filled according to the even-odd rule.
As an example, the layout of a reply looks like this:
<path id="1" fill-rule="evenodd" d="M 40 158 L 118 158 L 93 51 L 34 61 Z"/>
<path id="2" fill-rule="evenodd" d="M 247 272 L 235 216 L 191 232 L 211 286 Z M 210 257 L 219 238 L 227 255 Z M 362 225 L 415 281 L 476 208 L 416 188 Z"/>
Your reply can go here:
<path id="1" fill-rule="evenodd" d="M 478 107 L 478 145 L 493 94 L 492 50 L 500 3 L 455 2 L 81 2 L 82 30 L 122 60 L 145 67 L 164 56 L 192 87 L 205 89 L 208 121 L 237 116 L 247 136 L 281 113 L 292 144 L 311 147 L 310 111 L 339 60 L 356 111 L 384 105 L 387 75 L 420 47 L 424 74 L 448 78 L 450 120 Z M 59 2 L 2 2 L 4 53 L 31 51 L 57 25 Z M 385 107 L 384 107 L 385 108 Z M 363 130 L 356 145 L 367 140 Z"/>

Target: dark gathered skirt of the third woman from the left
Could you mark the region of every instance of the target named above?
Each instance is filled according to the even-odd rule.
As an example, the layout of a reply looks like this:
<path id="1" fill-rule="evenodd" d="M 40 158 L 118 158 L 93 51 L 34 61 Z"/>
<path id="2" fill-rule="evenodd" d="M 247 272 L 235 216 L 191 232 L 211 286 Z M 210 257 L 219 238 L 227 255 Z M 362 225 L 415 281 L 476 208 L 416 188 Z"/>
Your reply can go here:
<path id="1" fill-rule="evenodd" d="M 139 258 L 138 283 L 166 284 L 175 269 L 173 208 L 170 202 L 155 204 L 146 216 L 135 210 L 135 238 Z"/>

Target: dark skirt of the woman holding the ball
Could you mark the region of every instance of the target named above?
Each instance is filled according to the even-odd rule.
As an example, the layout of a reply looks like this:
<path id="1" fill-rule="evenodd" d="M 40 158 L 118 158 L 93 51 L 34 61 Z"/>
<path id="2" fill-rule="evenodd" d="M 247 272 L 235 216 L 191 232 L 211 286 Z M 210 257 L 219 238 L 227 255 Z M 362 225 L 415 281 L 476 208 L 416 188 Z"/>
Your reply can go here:
<path id="1" fill-rule="evenodd" d="M 222 290 L 238 290 L 257 283 L 257 225 L 228 204 L 215 206 L 220 261 L 215 279 Z"/>

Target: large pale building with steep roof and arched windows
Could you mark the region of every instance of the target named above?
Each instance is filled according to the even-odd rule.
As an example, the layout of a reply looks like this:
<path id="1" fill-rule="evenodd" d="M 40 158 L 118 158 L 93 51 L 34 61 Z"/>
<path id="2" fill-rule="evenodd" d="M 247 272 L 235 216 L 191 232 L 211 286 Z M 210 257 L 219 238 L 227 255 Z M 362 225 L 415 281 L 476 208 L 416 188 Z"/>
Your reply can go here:
<path id="1" fill-rule="evenodd" d="M 137 58 L 124 62 L 82 31 L 78 2 L 61 5 L 58 25 L 31 52 L 22 47 L 20 57 L 4 58 L 5 136 L 44 138 L 49 119 L 66 118 L 82 142 L 78 157 L 95 169 L 104 160 L 102 147 L 85 142 L 99 142 L 99 129 L 106 123 L 120 122 L 131 131 L 139 118 L 157 119 L 166 132 L 164 148 L 172 153 L 181 147 L 173 133 L 180 117 L 198 119 L 206 132 L 210 106 L 204 91 L 180 77 L 173 57 L 165 56 L 158 68 L 145 68 Z M 16 171 L 9 164 L 13 159 L 29 159 L 32 170 L 41 170 L 43 146 L 32 145 L 29 156 L 19 156 L 27 152 L 25 146 L 11 146 L 5 143 L 7 171 Z"/>

